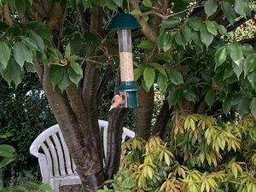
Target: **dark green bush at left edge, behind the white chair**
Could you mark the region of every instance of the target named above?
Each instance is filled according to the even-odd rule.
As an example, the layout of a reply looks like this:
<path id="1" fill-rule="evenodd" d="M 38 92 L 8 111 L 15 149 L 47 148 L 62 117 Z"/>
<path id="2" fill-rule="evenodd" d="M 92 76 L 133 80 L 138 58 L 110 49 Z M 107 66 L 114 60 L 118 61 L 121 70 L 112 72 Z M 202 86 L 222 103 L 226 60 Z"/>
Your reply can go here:
<path id="1" fill-rule="evenodd" d="M 16 159 L 3 167 L 0 178 L 4 186 L 13 186 L 39 179 L 38 160 L 29 154 L 32 141 L 50 125 L 55 124 L 48 102 L 35 73 L 26 73 L 24 81 L 15 89 L 0 78 L 0 144 L 8 143 L 16 149 Z"/>

